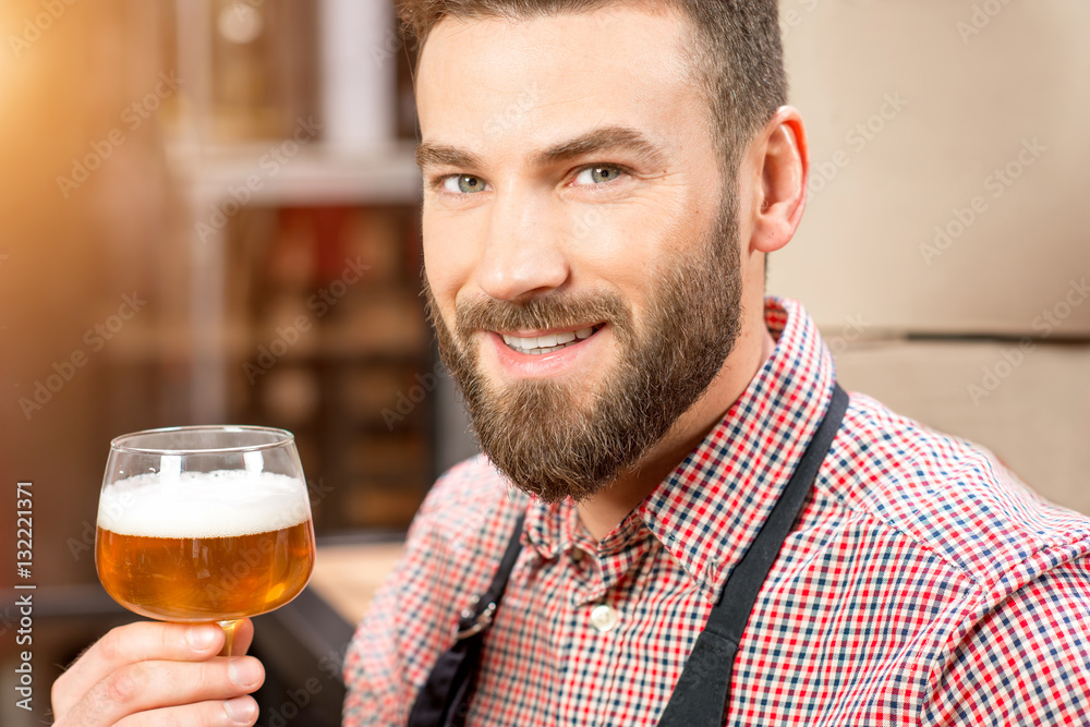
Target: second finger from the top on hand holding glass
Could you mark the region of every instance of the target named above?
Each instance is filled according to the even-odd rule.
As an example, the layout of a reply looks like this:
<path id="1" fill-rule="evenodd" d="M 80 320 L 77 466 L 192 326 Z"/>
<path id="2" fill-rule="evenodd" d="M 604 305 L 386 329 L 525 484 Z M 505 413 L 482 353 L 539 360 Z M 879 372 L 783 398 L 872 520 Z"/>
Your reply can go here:
<path id="1" fill-rule="evenodd" d="M 217 657 L 207 662 L 140 662 L 121 667 L 92 687 L 63 715 L 63 724 L 105 727 L 142 712 L 192 707 L 213 701 L 222 703 L 249 694 L 264 680 L 265 669 L 253 656 Z M 196 716 L 195 712 L 191 712 L 191 716 Z M 220 715 L 219 719 L 222 722 L 223 717 Z M 159 720 L 155 724 L 171 723 Z"/>

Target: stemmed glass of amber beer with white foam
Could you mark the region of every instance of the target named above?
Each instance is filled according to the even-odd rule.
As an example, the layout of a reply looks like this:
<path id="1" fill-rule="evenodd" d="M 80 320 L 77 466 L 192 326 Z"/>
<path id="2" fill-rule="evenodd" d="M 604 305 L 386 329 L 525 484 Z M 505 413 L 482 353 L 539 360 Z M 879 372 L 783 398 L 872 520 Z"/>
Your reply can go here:
<path id="1" fill-rule="evenodd" d="M 98 578 L 125 608 L 216 621 L 294 598 L 314 567 L 314 528 L 290 432 L 185 426 L 110 444 L 98 502 Z"/>

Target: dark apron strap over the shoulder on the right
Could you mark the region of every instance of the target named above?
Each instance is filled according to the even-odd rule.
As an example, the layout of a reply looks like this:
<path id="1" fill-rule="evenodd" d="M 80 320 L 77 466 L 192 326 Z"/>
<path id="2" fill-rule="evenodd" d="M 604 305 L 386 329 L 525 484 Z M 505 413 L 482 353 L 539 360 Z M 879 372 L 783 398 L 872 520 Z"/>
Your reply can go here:
<path id="1" fill-rule="evenodd" d="M 730 572 L 719 602 L 712 608 L 704 630 L 697 637 L 658 727 L 722 727 L 735 654 L 753 604 L 802 510 L 847 408 L 848 395 L 836 386 L 825 419 L 807 446 L 802 460 L 756 538 Z"/>

